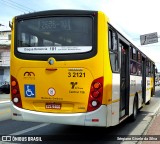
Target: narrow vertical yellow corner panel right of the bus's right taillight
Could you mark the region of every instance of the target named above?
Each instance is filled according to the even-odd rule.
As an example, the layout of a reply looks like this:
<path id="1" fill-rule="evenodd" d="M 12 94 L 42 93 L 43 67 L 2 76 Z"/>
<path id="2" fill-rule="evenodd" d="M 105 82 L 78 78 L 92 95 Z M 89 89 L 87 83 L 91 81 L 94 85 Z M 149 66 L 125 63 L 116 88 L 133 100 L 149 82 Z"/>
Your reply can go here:
<path id="1" fill-rule="evenodd" d="M 103 70 L 104 70 L 104 86 L 103 86 L 103 100 L 102 104 L 106 106 L 106 126 L 111 126 L 112 123 L 112 71 L 110 65 L 110 57 L 109 57 L 109 48 L 108 48 L 108 17 L 105 15 L 101 15 L 99 27 L 99 38 L 98 42 L 99 48 L 103 47 L 103 55 L 104 55 L 104 63 L 103 63 Z M 103 44 L 103 45 L 102 45 Z"/>

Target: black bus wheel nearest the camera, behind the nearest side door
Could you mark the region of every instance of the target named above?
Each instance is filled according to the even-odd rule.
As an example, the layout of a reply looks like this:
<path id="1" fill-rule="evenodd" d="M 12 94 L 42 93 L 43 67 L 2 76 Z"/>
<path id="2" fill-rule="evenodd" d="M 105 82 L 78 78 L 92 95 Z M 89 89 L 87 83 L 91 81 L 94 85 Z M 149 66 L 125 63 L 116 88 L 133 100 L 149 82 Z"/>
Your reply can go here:
<path id="1" fill-rule="evenodd" d="M 137 113 L 138 113 L 138 99 L 137 96 L 134 98 L 134 103 L 133 103 L 133 113 L 131 115 L 131 121 L 135 121 L 137 118 Z"/>

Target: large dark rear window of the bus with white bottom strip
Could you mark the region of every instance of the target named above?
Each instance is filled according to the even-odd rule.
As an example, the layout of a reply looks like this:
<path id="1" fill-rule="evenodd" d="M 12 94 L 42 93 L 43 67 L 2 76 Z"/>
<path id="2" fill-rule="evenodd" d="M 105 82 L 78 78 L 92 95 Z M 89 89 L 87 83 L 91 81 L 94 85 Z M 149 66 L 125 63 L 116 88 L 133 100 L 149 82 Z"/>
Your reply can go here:
<path id="1" fill-rule="evenodd" d="M 92 17 L 19 20 L 17 51 L 23 54 L 79 54 L 92 51 Z"/>

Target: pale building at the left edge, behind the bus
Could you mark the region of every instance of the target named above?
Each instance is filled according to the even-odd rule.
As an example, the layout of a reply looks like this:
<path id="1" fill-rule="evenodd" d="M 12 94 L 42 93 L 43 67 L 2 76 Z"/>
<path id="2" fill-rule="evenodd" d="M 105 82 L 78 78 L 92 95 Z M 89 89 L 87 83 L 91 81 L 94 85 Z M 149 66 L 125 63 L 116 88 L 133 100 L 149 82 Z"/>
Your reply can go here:
<path id="1" fill-rule="evenodd" d="M 11 31 L 0 31 L 0 85 L 9 82 Z"/>

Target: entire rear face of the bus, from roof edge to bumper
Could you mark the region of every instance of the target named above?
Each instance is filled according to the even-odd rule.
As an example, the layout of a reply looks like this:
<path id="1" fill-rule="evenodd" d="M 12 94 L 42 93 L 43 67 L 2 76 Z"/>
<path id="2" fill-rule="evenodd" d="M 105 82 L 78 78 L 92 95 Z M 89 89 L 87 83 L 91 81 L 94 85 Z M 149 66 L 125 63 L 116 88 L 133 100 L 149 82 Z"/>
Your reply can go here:
<path id="1" fill-rule="evenodd" d="M 102 15 L 57 10 L 13 19 L 12 119 L 106 125 Z"/>

